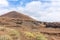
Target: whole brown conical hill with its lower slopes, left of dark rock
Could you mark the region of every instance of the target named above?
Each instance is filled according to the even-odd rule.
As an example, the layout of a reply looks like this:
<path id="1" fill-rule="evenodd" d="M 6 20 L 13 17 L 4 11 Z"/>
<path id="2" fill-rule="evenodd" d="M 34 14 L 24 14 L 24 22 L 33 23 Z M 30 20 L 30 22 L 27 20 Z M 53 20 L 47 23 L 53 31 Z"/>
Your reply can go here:
<path id="1" fill-rule="evenodd" d="M 6 27 L 20 27 L 24 28 L 40 28 L 45 27 L 45 25 L 41 24 L 40 22 L 36 21 L 35 19 L 21 14 L 16 11 L 11 11 L 8 13 L 5 13 L 4 15 L 0 16 L 0 25 L 6 26 Z"/>

